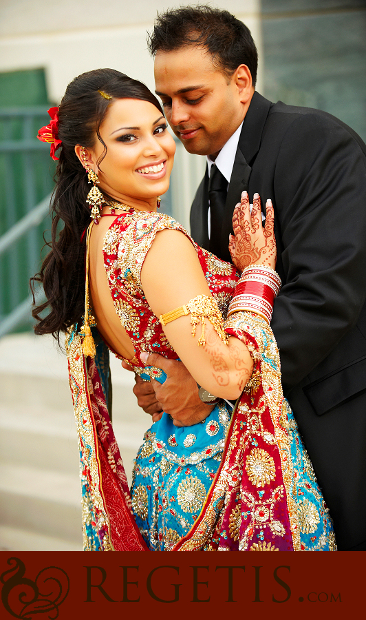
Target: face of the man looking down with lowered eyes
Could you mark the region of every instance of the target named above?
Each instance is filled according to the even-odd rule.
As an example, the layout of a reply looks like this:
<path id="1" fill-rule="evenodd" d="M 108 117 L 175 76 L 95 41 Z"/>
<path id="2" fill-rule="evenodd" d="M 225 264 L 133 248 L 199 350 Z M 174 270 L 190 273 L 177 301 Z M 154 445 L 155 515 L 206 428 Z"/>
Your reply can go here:
<path id="1" fill-rule="evenodd" d="M 189 153 L 216 156 L 245 111 L 235 74 L 228 78 L 205 48 L 191 45 L 155 56 L 156 94 L 166 120 Z"/>

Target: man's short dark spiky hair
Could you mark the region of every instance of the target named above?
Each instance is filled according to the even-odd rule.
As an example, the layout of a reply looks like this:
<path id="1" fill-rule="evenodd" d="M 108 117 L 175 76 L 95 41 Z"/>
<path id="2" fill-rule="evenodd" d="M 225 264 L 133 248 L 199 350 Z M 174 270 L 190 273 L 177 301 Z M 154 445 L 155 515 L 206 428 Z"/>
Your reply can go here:
<path id="1" fill-rule="evenodd" d="M 153 32 L 147 35 L 149 52 L 173 52 L 200 45 L 213 56 L 217 69 L 230 77 L 247 65 L 252 83 L 257 79 L 258 54 L 249 28 L 225 10 L 211 6 L 184 6 L 158 13 Z"/>

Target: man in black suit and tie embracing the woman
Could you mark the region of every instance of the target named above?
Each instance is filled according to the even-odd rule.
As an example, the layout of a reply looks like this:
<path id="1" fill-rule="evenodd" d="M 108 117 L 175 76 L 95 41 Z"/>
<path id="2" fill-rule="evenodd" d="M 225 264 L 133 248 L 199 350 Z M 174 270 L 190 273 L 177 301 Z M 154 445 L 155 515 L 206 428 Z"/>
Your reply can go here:
<path id="1" fill-rule="evenodd" d="M 226 11 L 168 11 L 155 22 L 149 48 L 173 132 L 188 152 L 207 156 L 191 210 L 195 241 L 230 261 L 241 192 L 250 201 L 255 192 L 262 203 L 272 199 L 283 286 L 271 327 L 283 391 L 338 548 L 366 550 L 365 144 L 330 114 L 256 92 L 255 43 Z M 155 385 L 158 402 L 138 382 L 139 404 L 189 423 L 187 412 L 200 410 L 194 381 L 179 362 L 150 355 L 147 364 L 162 367 L 169 382 Z"/>

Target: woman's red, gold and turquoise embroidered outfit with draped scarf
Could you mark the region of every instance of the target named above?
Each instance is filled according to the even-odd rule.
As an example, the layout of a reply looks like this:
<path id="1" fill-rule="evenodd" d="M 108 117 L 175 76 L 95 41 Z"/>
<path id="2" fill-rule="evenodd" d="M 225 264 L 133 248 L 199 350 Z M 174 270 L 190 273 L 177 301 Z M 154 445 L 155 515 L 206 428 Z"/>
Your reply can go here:
<path id="1" fill-rule="evenodd" d="M 177 359 L 158 318 L 147 304 L 140 283 L 144 258 L 162 229 L 179 230 L 188 236 L 175 220 L 164 214 L 124 213 L 113 221 L 103 247 L 116 313 L 136 351 L 129 364 L 140 374 L 144 372 L 139 359 L 142 351 Z M 193 240 L 192 243 L 213 298 L 225 318 L 239 274 L 232 265 L 197 247 Z M 132 499 L 108 413 L 107 345 L 94 327 L 96 357 L 86 358 L 78 326 L 69 330 L 66 348 L 80 446 L 85 550 L 336 550 L 332 520 L 290 406 L 283 399 L 279 352 L 270 327 L 258 315 L 239 312 L 224 322 L 224 329 L 228 335 L 245 342 L 254 368 L 231 419 L 224 424 L 224 418 L 219 418 L 224 420 L 225 431 L 221 447 L 217 448 L 219 444 L 215 442 L 208 447 L 207 458 L 213 454 L 209 451 L 217 448 L 213 454 L 214 470 L 211 468 L 210 473 L 206 468 L 212 482 L 202 495 L 202 484 L 193 475 L 192 464 L 195 459 L 202 462 L 205 455 L 192 457 L 193 453 L 186 451 L 180 464 L 173 450 L 175 437 L 169 437 L 170 441 L 164 444 L 150 429 L 136 459 Z M 215 420 L 206 424 L 208 435 L 215 435 L 217 426 Z M 188 433 L 184 435 L 187 448 L 195 440 L 191 428 L 182 431 Z M 154 464 L 158 481 L 155 488 L 148 484 L 146 463 Z M 180 488 L 189 490 L 186 497 L 192 499 L 193 482 L 198 480 L 200 501 L 193 498 L 197 514 L 182 536 L 172 528 L 159 530 L 156 526 L 154 546 L 150 544 L 146 527 L 144 530 L 140 523 L 139 528 L 139 518 L 146 517 L 148 500 L 155 502 L 157 513 L 164 512 L 159 480 L 172 475 L 173 469 L 180 475 Z M 158 470 L 160 478 L 156 474 Z M 177 497 L 169 500 L 177 505 Z M 183 510 L 190 509 L 192 513 L 187 502 L 181 502 Z M 171 506 L 166 507 L 166 514 L 170 510 L 173 515 Z M 159 547 L 159 537 L 169 542 L 169 535 L 170 544 Z"/>

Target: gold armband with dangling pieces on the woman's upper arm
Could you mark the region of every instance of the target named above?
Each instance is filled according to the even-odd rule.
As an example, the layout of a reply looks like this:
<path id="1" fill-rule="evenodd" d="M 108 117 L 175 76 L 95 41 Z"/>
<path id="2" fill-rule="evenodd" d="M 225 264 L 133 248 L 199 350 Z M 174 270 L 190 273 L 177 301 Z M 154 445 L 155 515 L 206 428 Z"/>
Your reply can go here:
<path id="1" fill-rule="evenodd" d="M 180 316 L 191 315 L 191 325 L 192 335 L 195 335 L 195 328 L 198 324 L 202 323 L 202 333 L 200 338 L 198 339 L 199 346 L 206 344 L 206 340 L 204 338 L 204 328 L 206 326 L 205 319 L 208 319 L 213 324 L 213 329 L 222 339 L 225 344 L 228 344 L 228 335 L 224 331 L 224 320 L 222 319 L 222 313 L 219 311 L 219 307 L 217 306 L 217 302 L 213 297 L 208 297 L 207 295 L 198 295 L 194 299 L 188 302 L 188 304 L 184 306 L 180 306 L 180 308 L 175 308 L 175 310 L 171 310 L 171 312 L 166 312 L 165 314 L 160 315 L 159 320 L 162 325 L 166 325 L 166 323 L 170 323 L 171 321 L 180 318 Z"/>

